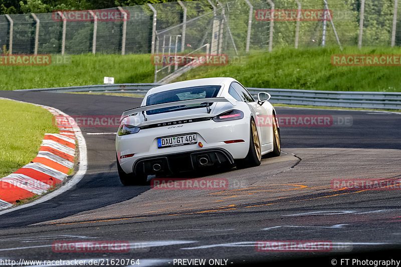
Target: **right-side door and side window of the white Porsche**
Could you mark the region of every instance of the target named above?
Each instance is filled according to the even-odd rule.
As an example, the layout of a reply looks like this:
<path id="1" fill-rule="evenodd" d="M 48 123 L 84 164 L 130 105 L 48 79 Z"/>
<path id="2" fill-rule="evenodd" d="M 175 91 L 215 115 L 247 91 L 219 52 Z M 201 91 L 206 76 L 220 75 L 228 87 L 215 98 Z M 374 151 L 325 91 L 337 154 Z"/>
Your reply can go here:
<path id="1" fill-rule="evenodd" d="M 259 119 L 259 117 L 261 117 L 261 116 L 265 117 L 268 114 L 265 107 L 263 107 L 262 105 L 259 105 L 255 101 L 253 96 L 248 92 L 248 90 L 245 89 L 245 87 L 243 87 L 241 84 L 239 84 L 237 82 L 233 82 L 233 83 L 231 83 L 230 88 L 231 87 L 237 92 L 237 94 L 241 98 L 241 101 L 246 102 L 254 110 L 255 115 L 256 115 L 255 123 L 256 123 L 256 127 L 258 129 L 259 139 L 260 139 L 261 144 L 267 144 L 267 143 L 272 142 L 272 138 L 269 135 L 269 132 L 270 132 L 269 127 L 266 127 L 267 125 L 260 124 L 257 121 Z M 264 119 L 266 119 L 266 118 L 264 118 Z"/>

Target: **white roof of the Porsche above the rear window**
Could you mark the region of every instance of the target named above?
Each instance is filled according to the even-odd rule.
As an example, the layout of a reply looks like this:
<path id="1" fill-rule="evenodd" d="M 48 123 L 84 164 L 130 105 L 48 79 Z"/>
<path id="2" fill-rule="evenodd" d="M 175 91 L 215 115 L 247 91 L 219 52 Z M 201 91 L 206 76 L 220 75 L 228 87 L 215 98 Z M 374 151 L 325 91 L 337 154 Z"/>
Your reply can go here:
<path id="1" fill-rule="evenodd" d="M 191 87 L 191 86 L 231 84 L 234 81 L 236 81 L 236 80 L 234 78 L 230 78 L 230 77 L 216 77 L 216 78 L 203 78 L 203 79 L 188 80 L 188 81 L 176 82 L 176 83 L 171 83 L 171 84 L 154 87 L 148 91 L 147 95 L 162 92 L 162 91 L 167 91 L 167 90 L 171 90 L 171 89 Z"/>

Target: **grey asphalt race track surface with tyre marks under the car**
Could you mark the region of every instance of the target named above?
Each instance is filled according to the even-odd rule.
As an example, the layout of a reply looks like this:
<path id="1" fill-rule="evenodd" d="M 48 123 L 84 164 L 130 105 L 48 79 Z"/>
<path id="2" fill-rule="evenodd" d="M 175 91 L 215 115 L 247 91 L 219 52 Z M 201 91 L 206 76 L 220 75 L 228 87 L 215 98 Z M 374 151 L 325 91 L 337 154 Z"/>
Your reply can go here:
<path id="1" fill-rule="evenodd" d="M 52 106 L 70 116 L 119 116 L 141 101 L 9 91 L 0 91 L 0 97 Z M 108 134 L 117 129 L 81 127 L 87 144 L 86 175 L 76 187 L 49 201 L 0 215 L 0 262 L 124 258 L 139 259 L 139 266 L 177 266 L 177 259 L 197 258 L 211 265 L 276 266 L 288 261 L 345 266 L 341 258 L 401 260 L 399 189 L 351 191 L 331 185 L 333 179 L 401 178 L 401 114 L 276 110 L 279 115 L 350 117 L 352 124 L 281 127 L 280 157 L 264 159 L 255 168 L 209 173 L 207 178 L 228 179 L 227 190 L 122 186 L 115 136 Z M 16 122 L 19 127 L 24 123 L 29 122 Z M 128 241 L 131 248 L 128 252 L 52 249 L 54 241 L 93 240 Z M 332 247 L 326 252 L 258 251 L 259 240 L 325 240 Z"/>

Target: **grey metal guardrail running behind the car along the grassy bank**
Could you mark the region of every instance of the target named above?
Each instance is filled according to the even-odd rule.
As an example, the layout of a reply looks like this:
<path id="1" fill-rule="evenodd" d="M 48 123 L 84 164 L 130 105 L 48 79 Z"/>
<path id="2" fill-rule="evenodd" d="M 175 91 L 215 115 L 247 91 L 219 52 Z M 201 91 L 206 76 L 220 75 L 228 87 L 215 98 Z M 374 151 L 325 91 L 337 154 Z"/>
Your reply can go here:
<path id="1" fill-rule="evenodd" d="M 135 93 L 144 95 L 146 92 L 161 84 L 105 84 L 89 86 L 70 86 L 46 89 L 24 89 L 15 91 L 45 91 L 45 92 L 112 92 Z M 401 110 L 401 93 L 387 92 L 343 92 L 343 91 L 312 91 L 296 89 L 248 88 L 257 97 L 259 92 L 268 92 L 274 104 L 311 105 L 343 108 L 368 109 L 399 109 Z"/>

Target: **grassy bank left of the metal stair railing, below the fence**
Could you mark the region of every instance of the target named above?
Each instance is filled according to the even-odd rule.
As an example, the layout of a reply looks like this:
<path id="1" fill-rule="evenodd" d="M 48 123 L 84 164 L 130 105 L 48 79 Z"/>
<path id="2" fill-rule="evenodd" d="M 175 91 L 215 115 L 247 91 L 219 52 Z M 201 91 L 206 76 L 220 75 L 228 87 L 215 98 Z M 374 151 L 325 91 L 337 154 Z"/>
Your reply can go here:
<path id="1" fill-rule="evenodd" d="M 0 90 L 51 88 L 115 83 L 152 83 L 150 55 L 73 55 L 71 64 L 49 66 L 0 66 Z"/>

